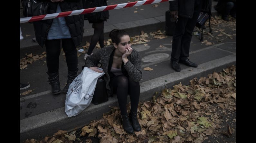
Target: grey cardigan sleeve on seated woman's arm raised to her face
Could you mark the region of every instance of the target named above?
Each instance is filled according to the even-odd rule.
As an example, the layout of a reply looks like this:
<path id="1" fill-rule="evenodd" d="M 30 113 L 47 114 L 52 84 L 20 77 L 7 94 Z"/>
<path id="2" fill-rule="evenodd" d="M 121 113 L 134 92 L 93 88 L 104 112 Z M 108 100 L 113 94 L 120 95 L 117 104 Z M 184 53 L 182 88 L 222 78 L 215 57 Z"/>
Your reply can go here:
<path id="1" fill-rule="evenodd" d="M 131 56 L 130 60 L 126 63 L 124 68 L 133 81 L 139 82 L 142 78 L 141 57 L 139 52 L 132 52 L 134 52 L 134 56 Z"/>

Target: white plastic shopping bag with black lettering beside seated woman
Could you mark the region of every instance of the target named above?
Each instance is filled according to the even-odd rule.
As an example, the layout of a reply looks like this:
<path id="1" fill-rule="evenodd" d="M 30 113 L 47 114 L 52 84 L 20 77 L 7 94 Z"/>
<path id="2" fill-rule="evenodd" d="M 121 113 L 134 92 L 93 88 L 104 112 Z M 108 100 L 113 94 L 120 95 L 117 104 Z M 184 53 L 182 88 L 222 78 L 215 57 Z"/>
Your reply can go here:
<path id="1" fill-rule="evenodd" d="M 72 81 L 65 101 L 65 112 L 68 117 L 78 115 L 90 105 L 97 80 L 102 75 L 104 72 L 98 73 L 86 67 Z"/>

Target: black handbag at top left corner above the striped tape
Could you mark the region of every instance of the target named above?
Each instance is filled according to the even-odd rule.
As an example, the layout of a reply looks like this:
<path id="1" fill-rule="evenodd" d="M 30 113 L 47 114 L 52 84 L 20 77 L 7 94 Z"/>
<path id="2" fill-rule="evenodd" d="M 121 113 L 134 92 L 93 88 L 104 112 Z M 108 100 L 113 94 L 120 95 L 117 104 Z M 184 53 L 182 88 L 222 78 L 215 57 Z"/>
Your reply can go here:
<path id="1" fill-rule="evenodd" d="M 22 0 L 23 16 L 31 17 L 48 14 L 50 3 L 39 0 Z"/>

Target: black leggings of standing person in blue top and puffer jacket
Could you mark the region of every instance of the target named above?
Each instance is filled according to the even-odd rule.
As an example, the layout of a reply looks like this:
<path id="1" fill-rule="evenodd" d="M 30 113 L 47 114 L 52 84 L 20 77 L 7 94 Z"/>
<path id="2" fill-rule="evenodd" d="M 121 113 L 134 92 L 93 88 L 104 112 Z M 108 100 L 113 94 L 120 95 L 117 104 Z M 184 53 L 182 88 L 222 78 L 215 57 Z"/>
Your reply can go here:
<path id="1" fill-rule="evenodd" d="M 66 62 L 69 71 L 77 70 L 77 51 L 76 46 L 71 38 L 69 39 L 53 39 L 45 40 L 46 47 L 46 63 L 49 73 L 59 71 L 59 57 L 62 48 L 65 53 Z"/>

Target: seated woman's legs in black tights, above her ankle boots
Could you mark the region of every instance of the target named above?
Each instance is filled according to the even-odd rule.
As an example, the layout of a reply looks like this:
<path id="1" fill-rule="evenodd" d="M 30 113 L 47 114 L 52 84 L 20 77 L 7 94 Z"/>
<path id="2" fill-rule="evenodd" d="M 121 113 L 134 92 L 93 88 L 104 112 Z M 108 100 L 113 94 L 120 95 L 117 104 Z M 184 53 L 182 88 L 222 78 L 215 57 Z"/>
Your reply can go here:
<path id="1" fill-rule="evenodd" d="M 117 93 L 118 104 L 121 110 L 121 115 L 127 114 L 127 96 L 130 95 L 131 111 L 137 113 L 140 86 L 139 82 L 134 82 L 130 77 L 118 75 L 110 80 L 110 85 L 114 87 L 114 92 Z"/>

